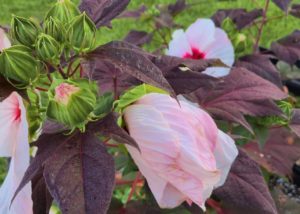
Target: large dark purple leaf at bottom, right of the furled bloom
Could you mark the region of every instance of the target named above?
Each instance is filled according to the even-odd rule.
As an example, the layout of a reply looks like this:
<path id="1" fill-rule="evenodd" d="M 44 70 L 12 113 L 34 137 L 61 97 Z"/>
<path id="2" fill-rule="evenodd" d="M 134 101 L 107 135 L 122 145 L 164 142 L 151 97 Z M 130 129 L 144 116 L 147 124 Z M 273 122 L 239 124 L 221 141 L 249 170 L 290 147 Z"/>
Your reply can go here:
<path id="1" fill-rule="evenodd" d="M 214 194 L 230 214 L 277 213 L 259 167 L 243 151 L 239 151 L 225 184 Z"/>

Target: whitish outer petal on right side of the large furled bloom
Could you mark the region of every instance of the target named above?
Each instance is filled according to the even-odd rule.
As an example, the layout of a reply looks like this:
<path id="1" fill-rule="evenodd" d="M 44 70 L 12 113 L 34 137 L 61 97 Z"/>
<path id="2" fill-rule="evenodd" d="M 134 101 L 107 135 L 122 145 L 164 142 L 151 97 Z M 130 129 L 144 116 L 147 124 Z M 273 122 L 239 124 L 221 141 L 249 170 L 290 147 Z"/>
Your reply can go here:
<path id="1" fill-rule="evenodd" d="M 226 181 L 231 165 L 238 155 L 234 140 L 221 130 L 219 130 L 218 143 L 215 149 L 217 167 L 221 171 L 221 179 L 215 187 L 222 186 Z"/>

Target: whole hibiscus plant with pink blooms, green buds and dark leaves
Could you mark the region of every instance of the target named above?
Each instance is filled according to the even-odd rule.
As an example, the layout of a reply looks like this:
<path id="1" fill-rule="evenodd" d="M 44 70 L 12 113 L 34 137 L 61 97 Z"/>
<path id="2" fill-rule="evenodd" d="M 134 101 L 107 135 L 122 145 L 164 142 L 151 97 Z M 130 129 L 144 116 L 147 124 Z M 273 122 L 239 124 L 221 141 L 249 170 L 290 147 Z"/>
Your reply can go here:
<path id="1" fill-rule="evenodd" d="M 278 213 L 267 182 L 292 182 L 300 158 L 300 110 L 278 69 L 299 62 L 299 32 L 260 47 L 269 0 L 186 30 L 173 22 L 184 0 L 129 2 L 59 0 L 0 29 L 0 213 Z M 116 17 L 153 31 L 97 46 Z M 155 35 L 162 46 L 142 49 Z"/>

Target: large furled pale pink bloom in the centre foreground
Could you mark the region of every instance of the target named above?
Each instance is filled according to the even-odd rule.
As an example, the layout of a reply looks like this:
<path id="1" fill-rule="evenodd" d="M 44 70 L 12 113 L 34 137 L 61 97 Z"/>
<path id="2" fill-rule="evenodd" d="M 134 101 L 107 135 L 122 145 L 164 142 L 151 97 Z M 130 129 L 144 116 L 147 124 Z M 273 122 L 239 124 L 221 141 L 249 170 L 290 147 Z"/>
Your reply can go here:
<path id="1" fill-rule="evenodd" d="M 179 98 L 180 99 L 180 98 Z M 223 185 L 238 151 L 197 105 L 163 94 L 147 94 L 124 111 L 141 152 L 127 146 L 162 208 L 204 203 Z"/>

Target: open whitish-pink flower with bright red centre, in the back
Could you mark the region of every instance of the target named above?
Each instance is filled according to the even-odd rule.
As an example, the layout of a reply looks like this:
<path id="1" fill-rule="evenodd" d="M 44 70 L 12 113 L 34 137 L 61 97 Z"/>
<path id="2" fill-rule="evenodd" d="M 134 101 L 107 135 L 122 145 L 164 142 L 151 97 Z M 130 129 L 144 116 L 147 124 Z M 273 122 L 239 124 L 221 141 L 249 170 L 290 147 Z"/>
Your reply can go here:
<path id="1" fill-rule="evenodd" d="M 167 55 L 191 59 L 220 59 L 232 66 L 234 50 L 227 34 L 210 19 L 198 19 L 184 32 L 182 29 L 173 33 Z M 229 74 L 230 68 L 212 67 L 204 73 L 222 77 Z"/>

